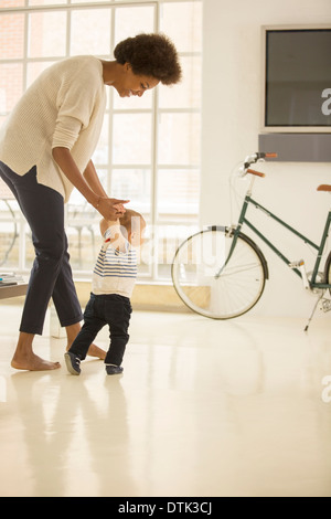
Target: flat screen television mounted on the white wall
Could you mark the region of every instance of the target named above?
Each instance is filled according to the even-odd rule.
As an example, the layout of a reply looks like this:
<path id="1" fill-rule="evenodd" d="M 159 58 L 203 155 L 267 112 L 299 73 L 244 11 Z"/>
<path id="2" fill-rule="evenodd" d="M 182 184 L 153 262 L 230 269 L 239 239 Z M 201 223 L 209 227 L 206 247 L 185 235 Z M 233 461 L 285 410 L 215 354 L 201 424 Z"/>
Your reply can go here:
<path id="1" fill-rule="evenodd" d="M 331 24 L 263 27 L 263 133 L 331 133 Z"/>

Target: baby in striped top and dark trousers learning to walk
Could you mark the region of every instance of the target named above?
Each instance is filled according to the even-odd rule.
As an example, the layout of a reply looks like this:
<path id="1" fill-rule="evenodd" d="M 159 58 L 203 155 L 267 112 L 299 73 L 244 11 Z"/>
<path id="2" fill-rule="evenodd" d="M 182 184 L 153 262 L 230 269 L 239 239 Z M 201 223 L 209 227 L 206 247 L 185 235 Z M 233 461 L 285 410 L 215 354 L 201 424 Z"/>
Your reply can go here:
<path id="1" fill-rule="evenodd" d="M 100 221 L 104 243 L 93 272 L 84 325 L 64 356 L 70 373 L 81 373 L 81 361 L 105 325 L 110 330 L 110 345 L 105 358 L 106 372 L 122 372 L 121 362 L 129 340 L 128 328 L 132 313 L 130 297 L 137 278 L 136 248 L 142 244 L 145 227 L 142 215 L 130 209 L 116 221 Z"/>

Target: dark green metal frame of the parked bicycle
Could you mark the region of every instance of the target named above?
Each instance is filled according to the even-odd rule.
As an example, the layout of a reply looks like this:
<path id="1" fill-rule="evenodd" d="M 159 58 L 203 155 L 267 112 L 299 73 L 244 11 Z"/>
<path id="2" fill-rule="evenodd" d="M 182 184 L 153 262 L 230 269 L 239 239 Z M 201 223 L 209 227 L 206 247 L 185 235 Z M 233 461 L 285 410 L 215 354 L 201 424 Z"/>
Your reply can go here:
<path id="1" fill-rule="evenodd" d="M 323 250 L 324 250 L 324 246 L 325 246 L 325 242 L 327 242 L 327 239 L 328 239 L 328 234 L 329 234 L 329 229 L 330 229 L 330 224 L 331 224 L 331 211 L 329 211 L 329 214 L 327 216 L 327 221 L 325 221 L 325 226 L 324 226 L 324 231 L 323 231 L 323 234 L 322 234 L 322 237 L 321 237 L 321 241 L 320 241 L 320 244 L 316 244 L 314 242 L 312 242 L 311 240 L 309 240 L 307 236 L 305 236 L 303 234 L 301 234 L 299 231 L 297 231 L 295 227 L 292 227 L 291 225 L 289 225 L 288 223 L 286 223 L 284 220 L 281 220 L 280 218 L 278 218 L 276 214 L 274 214 L 271 211 L 269 211 L 268 209 L 266 209 L 265 206 L 263 206 L 259 202 L 257 202 L 256 200 L 254 200 L 252 198 L 252 188 L 253 188 L 253 183 L 254 183 L 254 178 L 252 179 L 250 181 L 250 187 L 245 195 L 245 200 L 244 200 L 244 203 L 243 203 L 243 208 L 242 208 L 242 212 L 241 212 L 241 215 L 239 215 L 239 219 L 238 219 L 238 223 L 236 225 L 236 227 L 232 227 L 233 229 L 233 234 L 234 234 L 234 241 L 233 241 L 233 246 L 232 246 L 232 250 L 229 251 L 229 254 L 228 254 L 228 257 L 227 257 L 227 261 L 229 260 L 231 255 L 232 255 L 232 251 L 234 250 L 235 245 L 236 245 L 236 241 L 237 241 L 237 236 L 241 232 L 241 229 L 243 226 L 243 224 L 246 224 L 266 245 L 268 245 L 269 248 L 271 248 L 271 251 L 274 251 L 274 253 L 284 262 L 286 263 L 302 280 L 302 274 L 301 272 L 297 268 L 297 266 L 292 267 L 291 266 L 291 262 L 281 253 L 281 251 L 279 251 L 279 248 L 277 248 L 258 229 L 256 229 L 255 225 L 253 225 L 253 223 L 246 218 L 246 212 L 247 212 L 247 209 L 248 209 L 248 205 L 249 204 L 253 204 L 256 209 L 259 209 L 260 211 L 263 211 L 265 214 L 267 214 L 268 216 L 270 216 L 273 220 L 275 220 L 277 223 L 279 223 L 280 225 L 282 225 L 284 227 L 286 227 L 289 232 L 291 232 L 292 234 L 295 234 L 297 237 L 299 237 L 300 240 L 302 240 L 305 243 L 311 245 L 313 248 L 316 248 L 316 251 L 318 252 L 317 254 L 317 258 L 316 258 L 316 263 L 314 263 L 314 266 L 313 266 L 313 271 L 312 271 L 312 276 L 311 276 L 311 279 L 308 282 L 309 283 L 309 287 L 311 289 L 313 288 L 322 288 L 322 289 L 325 289 L 325 288 L 331 288 L 331 285 L 330 284 L 327 284 L 327 283 L 321 283 L 321 282 L 317 282 L 317 275 L 319 273 L 319 267 L 320 267 L 320 263 L 321 263 L 321 258 L 322 258 L 322 254 L 323 254 Z M 226 263 L 227 263 L 226 261 Z"/>

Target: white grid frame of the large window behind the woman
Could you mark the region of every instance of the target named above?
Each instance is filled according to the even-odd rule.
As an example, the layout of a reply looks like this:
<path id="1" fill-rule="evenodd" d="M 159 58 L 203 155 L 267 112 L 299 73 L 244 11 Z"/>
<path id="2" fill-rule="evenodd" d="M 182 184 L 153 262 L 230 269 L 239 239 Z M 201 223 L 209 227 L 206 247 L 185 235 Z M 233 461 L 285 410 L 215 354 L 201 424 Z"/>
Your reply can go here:
<path id="1" fill-rule="evenodd" d="M 28 86 L 28 66 L 32 63 L 42 63 L 42 62 L 56 62 L 58 60 L 63 60 L 65 57 L 68 57 L 71 55 L 71 18 L 72 13 L 77 10 L 96 10 L 96 9 L 111 9 L 111 27 L 110 27 L 110 53 L 111 49 L 114 49 L 116 42 L 115 42 L 115 23 L 116 23 L 116 15 L 115 12 L 117 12 L 118 9 L 129 9 L 129 8 L 137 8 L 137 7 L 152 7 L 153 8 L 153 31 L 158 32 L 160 31 L 160 25 L 161 25 L 161 6 L 162 4 L 169 4 L 169 3 L 202 3 L 202 0 L 130 0 L 130 1 L 121 1 L 121 0 L 113 0 L 113 1 L 89 1 L 89 2 L 79 2 L 79 3 L 72 3 L 71 0 L 67 0 L 67 3 L 60 3 L 56 4 L 56 0 L 54 0 L 53 4 L 50 6 L 31 6 L 29 4 L 29 1 L 25 0 L 25 4 L 22 7 L 12 7 L 12 8 L 0 8 L 0 17 L 1 14 L 7 14 L 7 13 L 19 13 L 22 12 L 24 13 L 24 49 L 23 49 L 23 56 L 21 59 L 2 59 L 0 55 L 0 64 L 9 64 L 9 63 L 22 63 L 23 65 L 23 92 Z M 65 43 L 65 55 L 62 56 L 43 56 L 43 57 L 31 57 L 29 56 L 28 52 L 28 45 L 29 45 L 29 14 L 35 13 L 35 12 L 55 12 L 55 11 L 61 11 L 61 12 L 66 12 L 66 30 L 65 30 L 65 38 L 66 38 L 66 43 Z M 192 51 L 192 52 L 180 52 L 179 51 L 179 56 L 201 56 L 202 55 L 202 50 L 200 52 Z M 109 59 L 109 54 L 107 55 L 98 55 L 100 59 Z M 162 86 L 163 87 L 163 86 Z M 172 219 L 167 220 L 159 218 L 159 203 L 158 203 L 158 179 L 159 179 L 159 171 L 164 171 L 164 170 L 177 170 L 177 171 L 188 171 L 188 170 L 197 170 L 200 172 L 200 162 L 199 163 L 160 163 L 158 160 L 159 157 L 159 125 L 160 125 L 160 119 L 162 115 L 167 114 L 201 114 L 201 108 L 199 107 L 184 107 L 184 108 L 162 108 L 159 105 L 159 92 L 158 88 L 154 88 L 153 92 L 151 93 L 152 95 L 152 100 L 151 100 L 151 106 L 149 108 L 141 108 L 141 109 L 127 109 L 127 108 L 115 108 L 114 107 L 114 92 L 111 88 L 109 91 L 109 98 L 108 98 L 108 104 L 107 104 L 107 109 L 105 115 L 108 115 L 108 139 L 109 139 L 109 145 L 108 145 L 108 163 L 98 163 L 95 162 L 96 169 L 98 170 L 107 170 L 107 184 L 106 184 L 106 191 L 108 193 L 113 194 L 111 190 L 111 170 L 142 170 L 143 167 L 150 169 L 150 216 L 148 219 L 148 225 L 151 227 L 151 236 L 154 236 L 156 233 L 158 233 L 158 229 L 160 230 L 160 233 L 162 235 L 164 227 L 167 225 L 173 226 L 173 225 L 180 225 L 181 227 L 188 229 L 188 234 L 190 234 L 191 231 L 194 231 L 197 229 L 199 224 L 199 212 L 196 213 L 196 218 L 194 221 L 194 218 L 188 218 L 188 220 L 181 220 L 175 224 Z M 114 128 L 114 116 L 120 115 L 120 114 L 150 114 L 151 116 L 151 157 L 150 157 L 150 163 L 141 165 L 141 163 L 114 163 L 113 160 L 113 128 Z M 67 206 L 66 206 L 67 211 Z M 25 220 L 23 215 L 20 213 L 19 216 L 19 226 L 20 226 L 20 232 L 19 232 L 19 272 L 22 274 L 26 274 L 30 271 L 30 265 L 26 264 L 26 243 L 25 243 Z M 170 230 L 171 233 L 171 230 Z M 184 235 L 184 230 L 181 229 L 181 234 Z M 157 241 L 157 239 L 153 237 L 153 240 Z M 154 244 L 154 247 L 158 250 L 158 244 Z M 148 272 L 143 272 L 139 274 L 138 277 L 138 283 L 159 283 L 163 282 L 167 283 L 169 282 L 169 276 L 162 277 L 160 275 L 160 271 L 163 268 L 159 265 L 158 261 L 158 254 L 154 254 L 152 257 L 152 262 L 149 265 Z M 93 265 L 92 265 L 93 267 Z M 92 275 L 92 268 L 90 269 L 77 269 L 73 266 L 73 274 L 75 279 L 89 279 Z"/>

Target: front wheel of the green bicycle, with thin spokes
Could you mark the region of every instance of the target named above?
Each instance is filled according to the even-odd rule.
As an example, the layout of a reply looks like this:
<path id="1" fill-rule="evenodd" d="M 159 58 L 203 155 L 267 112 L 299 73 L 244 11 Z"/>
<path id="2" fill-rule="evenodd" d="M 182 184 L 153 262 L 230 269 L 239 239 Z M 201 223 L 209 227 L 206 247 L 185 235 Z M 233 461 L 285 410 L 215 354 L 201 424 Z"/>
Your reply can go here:
<path id="1" fill-rule="evenodd" d="M 173 286 L 193 311 L 213 319 L 231 319 L 250 310 L 259 300 L 268 277 L 258 246 L 226 227 L 201 231 L 178 248 L 172 263 Z M 228 258 L 228 260 L 227 260 Z"/>

